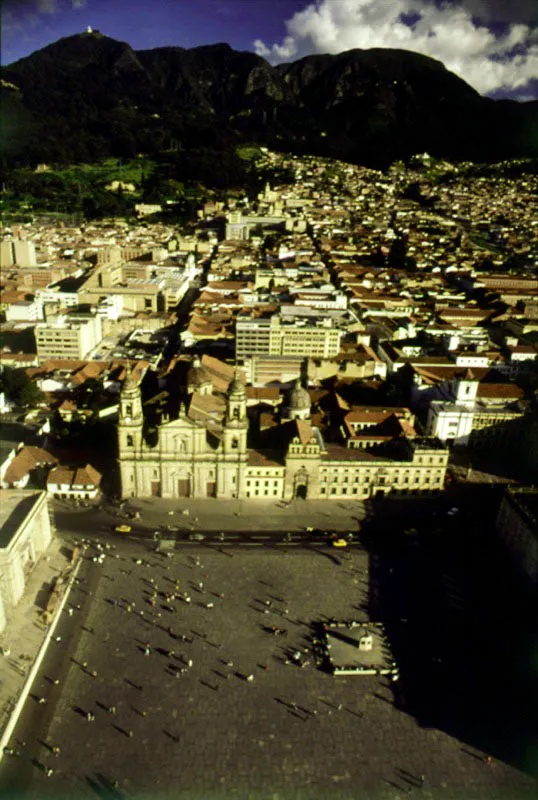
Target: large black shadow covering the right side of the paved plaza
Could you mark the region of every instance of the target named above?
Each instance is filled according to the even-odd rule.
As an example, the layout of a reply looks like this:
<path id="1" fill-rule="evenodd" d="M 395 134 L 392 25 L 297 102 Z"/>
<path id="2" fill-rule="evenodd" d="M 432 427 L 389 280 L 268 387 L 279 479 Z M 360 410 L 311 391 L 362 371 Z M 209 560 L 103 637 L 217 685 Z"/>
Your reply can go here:
<path id="1" fill-rule="evenodd" d="M 538 776 L 536 596 L 496 542 L 491 493 L 481 499 L 412 527 L 371 513 L 361 531 L 368 614 L 384 623 L 399 666 L 399 679 L 386 679 L 396 707 L 469 757 Z"/>

